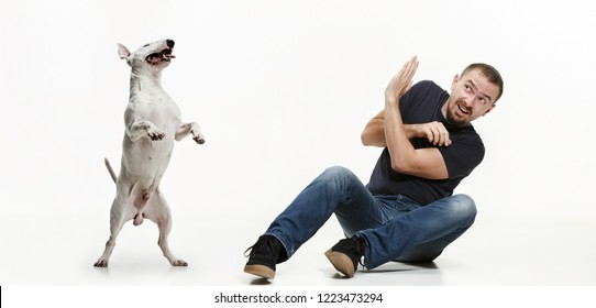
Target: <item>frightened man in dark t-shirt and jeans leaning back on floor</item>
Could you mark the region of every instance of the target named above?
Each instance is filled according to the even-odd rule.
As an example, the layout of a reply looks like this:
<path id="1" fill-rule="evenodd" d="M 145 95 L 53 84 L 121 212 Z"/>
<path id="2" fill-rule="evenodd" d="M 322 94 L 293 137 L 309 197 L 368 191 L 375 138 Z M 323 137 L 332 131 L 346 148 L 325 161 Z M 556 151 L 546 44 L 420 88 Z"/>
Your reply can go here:
<path id="1" fill-rule="evenodd" d="M 484 157 L 471 122 L 495 108 L 503 79 L 494 67 L 472 64 L 455 75 L 449 95 L 432 81 L 412 86 L 417 67 L 412 57 L 391 79 L 385 109 L 362 133 L 364 145 L 384 147 L 368 185 L 342 167 L 323 172 L 249 249 L 244 272 L 274 278 L 276 264 L 332 213 L 346 239 L 325 256 L 347 277 L 362 260 L 368 270 L 430 262 L 474 223 L 474 200 L 453 190 Z"/>

